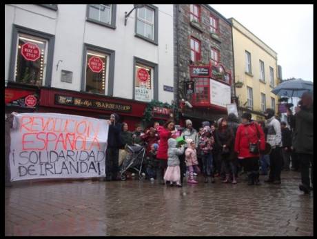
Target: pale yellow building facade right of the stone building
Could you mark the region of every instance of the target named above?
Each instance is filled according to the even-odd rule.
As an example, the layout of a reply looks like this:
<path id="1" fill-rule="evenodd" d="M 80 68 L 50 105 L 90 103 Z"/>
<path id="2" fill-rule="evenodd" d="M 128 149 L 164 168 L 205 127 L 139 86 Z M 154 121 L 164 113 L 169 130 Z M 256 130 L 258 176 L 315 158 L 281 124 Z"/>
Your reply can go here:
<path id="1" fill-rule="evenodd" d="M 232 21 L 238 111 L 251 113 L 252 120 L 264 120 L 265 108 L 274 108 L 277 115 L 278 97 L 271 92 L 279 82 L 277 53 L 236 19 L 229 20 Z"/>

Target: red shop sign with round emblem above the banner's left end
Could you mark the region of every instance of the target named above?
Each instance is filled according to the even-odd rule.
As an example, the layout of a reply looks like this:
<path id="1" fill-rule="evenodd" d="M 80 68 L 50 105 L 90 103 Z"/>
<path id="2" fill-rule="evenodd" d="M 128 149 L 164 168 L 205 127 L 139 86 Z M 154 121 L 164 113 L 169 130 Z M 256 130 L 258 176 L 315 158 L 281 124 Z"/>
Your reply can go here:
<path id="1" fill-rule="evenodd" d="M 4 93 L 6 106 L 22 108 L 35 108 L 37 106 L 37 93 L 34 90 L 5 88 Z"/>

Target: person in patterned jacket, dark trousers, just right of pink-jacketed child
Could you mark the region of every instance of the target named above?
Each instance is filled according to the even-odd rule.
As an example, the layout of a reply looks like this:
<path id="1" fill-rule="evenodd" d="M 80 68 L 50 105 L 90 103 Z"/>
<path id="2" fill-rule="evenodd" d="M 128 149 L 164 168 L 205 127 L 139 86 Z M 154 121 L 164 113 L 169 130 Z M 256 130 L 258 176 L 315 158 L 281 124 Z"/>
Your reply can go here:
<path id="1" fill-rule="evenodd" d="M 203 133 L 199 137 L 199 149 L 202 155 L 204 182 L 208 182 L 208 177 L 211 177 L 211 182 L 214 180 L 214 164 L 212 150 L 214 149 L 214 136 L 212 129 L 209 126 L 203 128 Z"/>

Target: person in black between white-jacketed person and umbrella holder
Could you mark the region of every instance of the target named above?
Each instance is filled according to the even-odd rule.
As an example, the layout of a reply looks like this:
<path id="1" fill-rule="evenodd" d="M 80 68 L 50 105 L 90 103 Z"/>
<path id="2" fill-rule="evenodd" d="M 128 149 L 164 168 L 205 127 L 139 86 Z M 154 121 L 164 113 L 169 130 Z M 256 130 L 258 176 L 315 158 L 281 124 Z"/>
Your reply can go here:
<path id="1" fill-rule="evenodd" d="M 280 129 L 282 131 L 282 154 L 284 160 L 285 171 L 289 171 L 289 161 L 291 156 L 291 146 L 292 146 L 292 133 L 287 128 L 286 122 L 280 122 Z"/>

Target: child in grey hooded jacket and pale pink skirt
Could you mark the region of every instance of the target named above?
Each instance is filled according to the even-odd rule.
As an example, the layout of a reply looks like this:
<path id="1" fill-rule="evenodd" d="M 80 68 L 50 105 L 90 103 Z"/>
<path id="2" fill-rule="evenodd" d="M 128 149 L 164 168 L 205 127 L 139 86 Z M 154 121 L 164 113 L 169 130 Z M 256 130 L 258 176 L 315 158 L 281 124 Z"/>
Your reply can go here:
<path id="1" fill-rule="evenodd" d="M 184 145 L 181 148 L 176 148 L 176 140 L 170 138 L 167 140 L 167 169 L 165 171 L 164 180 L 170 181 L 170 186 L 176 183 L 176 187 L 182 187 L 181 185 L 181 168 L 179 166 L 180 161 L 178 155 L 182 155 L 185 151 Z"/>

